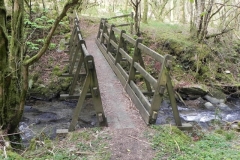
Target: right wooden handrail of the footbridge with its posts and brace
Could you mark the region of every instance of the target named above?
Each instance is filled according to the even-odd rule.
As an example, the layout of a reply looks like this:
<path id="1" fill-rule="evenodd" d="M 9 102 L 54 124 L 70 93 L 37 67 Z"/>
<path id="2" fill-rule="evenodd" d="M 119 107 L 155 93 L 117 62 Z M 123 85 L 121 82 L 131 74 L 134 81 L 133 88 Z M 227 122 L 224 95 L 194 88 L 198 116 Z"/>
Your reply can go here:
<path id="1" fill-rule="evenodd" d="M 116 37 L 118 37 L 118 39 Z M 125 90 L 139 109 L 140 114 L 147 124 L 156 122 L 164 91 L 167 89 L 175 123 L 179 128 L 183 127 L 169 76 L 172 63 L 172 57 L 170 55 L 161 55 L 148 48 L 142 43 L 142 39 L 132 38 L 126 31 L 118 29 L 114 24 L 109 24 L 108 19 L 105 18 L 100 20 L 96 43 L 123 86 L 125 86 Z M 134 46 L 134 54 L 132 57 L 126 50 L 128 43 Z M 157 79 L 146 71 L 141 56 L 142 53 L 151 56 L 161 64 L 161 70 Z M 125 71 L 121 66 L 120 62 L 124 59 L 130 63 L 129 71 Z M 147 94 L 153 95 L 151 103 L 146 98 L 146 93 L 143 93 L 134 82 L 135 75 L 139 73 L 144 77 L 148 90 Z"/>

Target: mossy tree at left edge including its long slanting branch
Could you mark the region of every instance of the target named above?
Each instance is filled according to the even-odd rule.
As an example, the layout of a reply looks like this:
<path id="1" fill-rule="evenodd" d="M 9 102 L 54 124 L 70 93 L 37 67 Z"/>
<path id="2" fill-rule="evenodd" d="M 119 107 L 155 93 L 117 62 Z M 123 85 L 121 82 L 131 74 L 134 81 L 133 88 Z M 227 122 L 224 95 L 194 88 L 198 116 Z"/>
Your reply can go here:
<path id="1" fill-rule="evenodd" d="M 33 57 L 24 54 L 24 1 L 13 1 L 11 40 L 6 32 L 6 9 L 0 0 L 0 127 L 4 133 L 14 133 L 22 118 L 28 90 L 28 68 L 46 52 L 59 22 L 79 0 L 69 0 L 49 31 L 43 47 Z M 81 0 L 80 0 L 81 1 Z M 10 45 L 9 45 L 10 44 Z M 8 50 L 8 46 L 9 50 Z M 13 139 L 10 140 L 13 141 Z"/>

